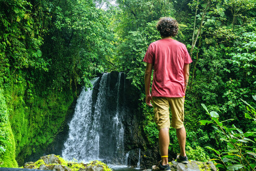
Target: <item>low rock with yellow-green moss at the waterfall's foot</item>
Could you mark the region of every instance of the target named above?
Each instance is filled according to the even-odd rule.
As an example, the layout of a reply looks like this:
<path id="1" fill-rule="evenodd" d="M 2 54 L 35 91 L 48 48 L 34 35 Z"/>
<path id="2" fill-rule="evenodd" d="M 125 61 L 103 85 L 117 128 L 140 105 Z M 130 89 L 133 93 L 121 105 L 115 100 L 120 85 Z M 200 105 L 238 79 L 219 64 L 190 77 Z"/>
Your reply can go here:
<path id="1" fill-rule="evenodd" d="M 57 171 L 112 171 L 111 168 L 100 161 L 92 161 L 87 164 L 67 162 L 62 157 L 54 154 L 42 156 L 36 162 L 27 162 L 23 168 Z"/>

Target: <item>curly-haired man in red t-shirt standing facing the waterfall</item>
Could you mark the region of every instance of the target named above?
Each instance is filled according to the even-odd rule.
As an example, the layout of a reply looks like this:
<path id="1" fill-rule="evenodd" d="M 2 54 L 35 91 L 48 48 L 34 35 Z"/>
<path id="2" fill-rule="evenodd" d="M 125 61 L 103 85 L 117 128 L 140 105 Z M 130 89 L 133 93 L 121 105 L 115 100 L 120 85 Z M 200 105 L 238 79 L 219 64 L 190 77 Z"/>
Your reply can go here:
<path id="1" fill-rule="evenodd" d="M 152 166 L 152 170 L 170 171 L 168 164 L 169 146 L 169 106 L 172 112 L 172 127 L 176 129 L 180 155 L 177 161 L 187 164 L 185 152 L 186 130 L 184 127 L 184 101 L 189 79 L 189 64 L 192 62 L 184 44 L 174 40 L 178 33 L 178 22 L 164 17 L 156 26 L 162 39 L 149 45 L 143 59 L 147 63 L 145 69 L 146 103 L 154 107 L 154 120 L 159 130 L 159 145 L 162 161 Z M 152 94 L 150 82 L 154 67 Z"/>

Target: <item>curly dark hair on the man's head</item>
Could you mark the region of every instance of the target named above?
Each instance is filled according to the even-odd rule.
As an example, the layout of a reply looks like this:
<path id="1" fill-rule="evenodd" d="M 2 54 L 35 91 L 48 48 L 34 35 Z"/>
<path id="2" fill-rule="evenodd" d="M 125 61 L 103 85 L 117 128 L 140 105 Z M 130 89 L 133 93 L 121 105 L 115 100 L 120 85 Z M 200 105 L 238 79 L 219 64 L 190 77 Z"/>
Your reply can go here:
<path id="1" fill-rule="evenodd" d="M 168 36 L 174 37 L 178 33 L 178 22 L 170 17 L 160 18 L 156 25 L 160 34 L 166 38 Z"/>

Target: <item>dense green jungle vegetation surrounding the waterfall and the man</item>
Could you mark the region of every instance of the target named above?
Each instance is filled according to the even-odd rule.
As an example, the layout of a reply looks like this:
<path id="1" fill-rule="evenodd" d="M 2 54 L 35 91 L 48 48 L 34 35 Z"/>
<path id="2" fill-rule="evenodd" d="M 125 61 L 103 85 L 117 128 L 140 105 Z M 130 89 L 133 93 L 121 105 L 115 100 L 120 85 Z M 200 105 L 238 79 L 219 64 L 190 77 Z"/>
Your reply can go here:
<path id="1" fill-rule="evenodd" d="M 50 144 L 79 88 L 112 70 L 125 72 L 141 93 L 143 127 L 154 146 L 142 60 L 161 39 L 157 20 L 170 16 L 179 22 L 175 39 L 193 60 L 185 101 L 189 159 L 253 170 L 255 15 L 255 0 L 0 0 L 1 167 L 17 167 Z M 174 129 L 169 151 L 179 151 Z"/>

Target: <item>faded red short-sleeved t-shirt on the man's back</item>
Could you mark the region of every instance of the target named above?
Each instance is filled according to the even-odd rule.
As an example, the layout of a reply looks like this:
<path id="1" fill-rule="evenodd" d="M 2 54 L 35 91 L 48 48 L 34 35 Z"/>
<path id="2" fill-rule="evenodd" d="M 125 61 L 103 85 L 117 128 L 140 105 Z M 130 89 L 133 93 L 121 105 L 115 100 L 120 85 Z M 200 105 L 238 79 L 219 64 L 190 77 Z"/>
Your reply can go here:
<path id="1" fill-rule="evenodd" d="M 183 97 L 184 64 L 192 62 L 185 44 L 161 39 L 149 45 L 144 62 L 153 64 L 152 96 Z"/>

